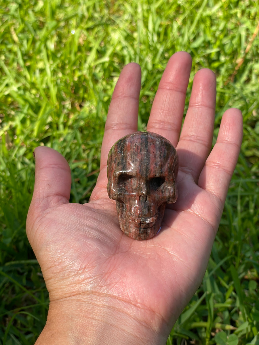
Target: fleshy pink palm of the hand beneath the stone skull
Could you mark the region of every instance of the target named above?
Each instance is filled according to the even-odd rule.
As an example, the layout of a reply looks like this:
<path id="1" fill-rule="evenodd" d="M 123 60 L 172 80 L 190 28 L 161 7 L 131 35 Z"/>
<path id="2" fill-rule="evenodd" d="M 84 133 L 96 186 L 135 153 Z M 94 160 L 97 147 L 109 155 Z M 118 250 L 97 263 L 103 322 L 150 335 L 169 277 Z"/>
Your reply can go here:
<path id="1" fill-rule="evenodd" d="M 188 184 L 195 189 L 194 182 L 185 181 L 184 185 Z M 191 187 L 186 188 L 190 193 Z M 206 203 L 202 190 L 193 193 Z M 184 198 L 179 199 L 184 207 Z M 207 264 L 207 252 L 204 260 L 201 247 L 204 241 L 200 241 L 201 246 L 190 245 L 204 227 L 208 225 L 191 213 L 188 205 L 183 211 L 167 208 L 160 234 L 147 241 L 134 241 L 119 228 L 115 202 L 108 197 L 85 205 L 51 208 L 39 220 L 39 230 L 48 231 L 41 238 L 38 257 L 50 298 L 75 293 L 109 294 L 151 310 L 157 304 L 161 309 L 168 308 L 169 300 L 179 297 L 185 304 L 197 288 L 193 274 L 202 277 Z M 214 236 L 212 228 L 208 232 L 209 237 Z M 196 266 L 203 266 L 200 273 Z M 190 280 L 193 285 L 189 292 L 185 284 Z M 172 295 L 172 291 L 182 296 Z"/>

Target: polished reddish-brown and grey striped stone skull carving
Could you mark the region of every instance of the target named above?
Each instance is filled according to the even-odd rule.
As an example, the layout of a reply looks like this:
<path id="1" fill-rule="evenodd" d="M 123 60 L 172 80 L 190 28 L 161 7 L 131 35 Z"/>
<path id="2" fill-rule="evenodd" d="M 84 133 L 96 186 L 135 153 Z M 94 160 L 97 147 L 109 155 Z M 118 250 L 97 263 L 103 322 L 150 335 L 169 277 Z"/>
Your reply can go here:
<path id="1" fill-rule="evenodd" d="M 128 237 L 143 240 L 159 232 L 166 204 L 177 199 L 177 173 L 176 149 L 158 134 L 134 132 L 113 145 L 107 191 Z"/>

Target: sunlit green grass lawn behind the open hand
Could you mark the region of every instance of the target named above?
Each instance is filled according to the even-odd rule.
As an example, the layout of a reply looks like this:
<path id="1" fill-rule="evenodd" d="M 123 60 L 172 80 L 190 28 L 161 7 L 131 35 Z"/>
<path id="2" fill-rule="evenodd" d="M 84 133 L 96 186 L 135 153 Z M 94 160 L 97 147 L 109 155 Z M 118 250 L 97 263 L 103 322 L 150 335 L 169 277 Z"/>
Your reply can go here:
<path id="1" fill-rule="evenodd" d="M 32 152 L 53 147 L 72 170 L 71 201 L 94 187 L 112 91 L 122 67 L 142 68 L 145 128 L 169 57 L 217 75 L 221 116 L 240 108 L 244 137 L 203 282 L 167 344 L 259 344 L 259 20 L 256 1 L 2 0 L 0 4 L 0 344 L 32 344 L 48 294 L 25 233 Z M 244 58 L 231 81 L 238 59 Z"/>

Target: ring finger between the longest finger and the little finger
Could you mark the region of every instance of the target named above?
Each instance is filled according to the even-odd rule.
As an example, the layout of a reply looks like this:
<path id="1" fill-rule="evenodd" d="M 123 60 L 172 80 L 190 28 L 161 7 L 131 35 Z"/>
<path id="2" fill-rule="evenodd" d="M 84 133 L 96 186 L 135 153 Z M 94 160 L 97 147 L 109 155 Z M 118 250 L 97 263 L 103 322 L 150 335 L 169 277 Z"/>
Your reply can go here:
<path id="1" fill-rule="evenodd" d="M 196 73 L 177 151 L 179 168 L 195 183 L 209 155 L 215 120 L 216 77 L 209 69 Z"/>

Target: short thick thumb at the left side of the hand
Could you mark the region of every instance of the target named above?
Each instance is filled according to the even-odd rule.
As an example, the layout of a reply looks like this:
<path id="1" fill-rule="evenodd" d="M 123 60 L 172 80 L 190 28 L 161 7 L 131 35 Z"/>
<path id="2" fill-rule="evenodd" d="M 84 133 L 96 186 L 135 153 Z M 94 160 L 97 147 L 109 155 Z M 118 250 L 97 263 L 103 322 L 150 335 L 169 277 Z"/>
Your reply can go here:
<path id="1" fill-rule="evenodd" d="M 30 211 L 36 217 L 49 207 L 69 203 L 71 172 L 65 158 L 49 147 L 35 149 L 35 185 Z"/>

